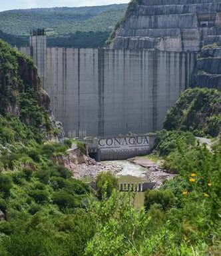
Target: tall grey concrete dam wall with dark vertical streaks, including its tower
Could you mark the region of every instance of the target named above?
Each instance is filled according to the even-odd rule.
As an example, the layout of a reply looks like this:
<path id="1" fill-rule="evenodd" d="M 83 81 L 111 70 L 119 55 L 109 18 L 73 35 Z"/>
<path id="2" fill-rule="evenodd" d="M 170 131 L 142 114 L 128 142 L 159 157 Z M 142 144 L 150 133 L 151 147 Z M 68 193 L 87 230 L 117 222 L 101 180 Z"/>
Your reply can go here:
<path id="1" fill-rule="evenodd" d="M 196 62 L 195 52 L 50 48 L 41 30 L 19 51 L 37 64 L 68 137 L 160 130 Z"/>

